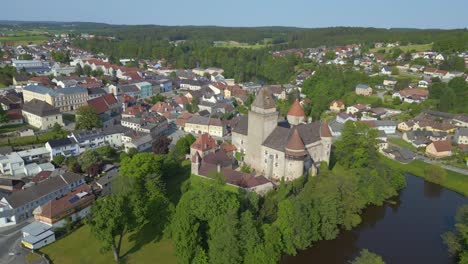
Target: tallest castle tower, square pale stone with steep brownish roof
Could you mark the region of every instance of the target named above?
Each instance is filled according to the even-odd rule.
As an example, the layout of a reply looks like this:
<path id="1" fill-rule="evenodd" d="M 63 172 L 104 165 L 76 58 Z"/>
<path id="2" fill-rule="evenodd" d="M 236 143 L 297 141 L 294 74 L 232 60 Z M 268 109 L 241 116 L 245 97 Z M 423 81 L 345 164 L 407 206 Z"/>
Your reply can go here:
<path id="1" fill-rule="evenodd" d="M 261 146 L 277 125 L 278 112 L 273 95 L 267 87 L 262 87 L 249 111 L 245 155 L 245 162 L 256 171 L 261 171 L 264 162 Z"/>

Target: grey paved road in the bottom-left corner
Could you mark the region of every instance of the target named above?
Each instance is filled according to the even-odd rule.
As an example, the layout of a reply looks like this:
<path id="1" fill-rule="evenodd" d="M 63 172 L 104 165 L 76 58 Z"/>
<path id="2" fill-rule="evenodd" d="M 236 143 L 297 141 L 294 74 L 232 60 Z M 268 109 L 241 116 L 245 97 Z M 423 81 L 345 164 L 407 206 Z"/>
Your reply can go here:
<path id="1" fill-rule="evenodd" d="M 21 228 L 28 225 L 30 221 L 21 224 L 0 228 L 0 263 L 2 264 L 24 264 L 28 250 L 21 247 Z M 14 253 L 14 255 L 10 255 Z"/>

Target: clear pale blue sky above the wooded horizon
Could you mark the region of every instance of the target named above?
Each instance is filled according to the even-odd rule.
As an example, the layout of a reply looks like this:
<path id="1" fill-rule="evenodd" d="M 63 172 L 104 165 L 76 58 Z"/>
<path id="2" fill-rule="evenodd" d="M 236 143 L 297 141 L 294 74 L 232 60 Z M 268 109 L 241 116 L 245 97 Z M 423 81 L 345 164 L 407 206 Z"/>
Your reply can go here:
<path id="1" fill-rule="evenodd" d="M 25 21 L 307 28 L 468 27 L 468 0 L 10 0 L 1 1 L 0 9 L 0 20 Z"/>

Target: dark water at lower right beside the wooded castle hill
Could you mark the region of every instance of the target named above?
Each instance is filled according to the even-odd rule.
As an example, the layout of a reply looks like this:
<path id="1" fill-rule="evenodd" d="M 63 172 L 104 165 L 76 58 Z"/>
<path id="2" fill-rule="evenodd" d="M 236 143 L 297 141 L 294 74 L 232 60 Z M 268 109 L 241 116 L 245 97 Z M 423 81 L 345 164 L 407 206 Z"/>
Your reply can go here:
<path id="1" fill-rule="evenodd" d="M 416 176 L 406 180 L 407 187 L 392 199 L 395 203 L 367 208 L 355 229 L 284 256 L 282 263 L 350 263 L 364 248 L 387 264 L 454 263 L 440 235 L 453 228 L 457 208 L 468 199 Z"/>

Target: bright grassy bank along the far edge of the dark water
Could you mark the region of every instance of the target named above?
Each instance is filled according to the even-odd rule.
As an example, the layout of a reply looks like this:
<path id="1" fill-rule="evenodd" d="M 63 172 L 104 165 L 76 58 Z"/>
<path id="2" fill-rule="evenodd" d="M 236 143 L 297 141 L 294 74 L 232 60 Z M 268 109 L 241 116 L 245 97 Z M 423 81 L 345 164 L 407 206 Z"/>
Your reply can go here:
<path id="1" fill-rule="evenodd" d="M 382 156 L 382 161 L 384 164 L 393 169 L 403 170 L 425 180 L 427 180 L 427 177 L 424 173 L 424 169 L 428 166 L 431 166 L 430 164 L 420 160 L 413 160 L 410 163 L 404 164 L 385 156 Z M 447 178 L 444 182 L 441 183 L 441 185 L 450 190 L 463 194 L 464 196 L 468 196 L 468 176 L 451 170 L 444 170 L 447 171 Z"/>

